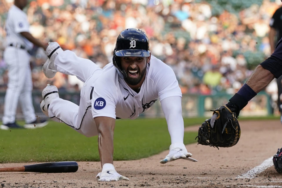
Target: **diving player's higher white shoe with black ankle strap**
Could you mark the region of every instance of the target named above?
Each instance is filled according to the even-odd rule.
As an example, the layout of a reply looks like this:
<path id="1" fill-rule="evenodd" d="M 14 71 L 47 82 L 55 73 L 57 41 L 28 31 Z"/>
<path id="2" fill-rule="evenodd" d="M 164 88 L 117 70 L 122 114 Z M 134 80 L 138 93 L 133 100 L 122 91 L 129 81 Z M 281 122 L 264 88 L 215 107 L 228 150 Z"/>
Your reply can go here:
<path id="1" fill-rule="evenodd" d="M 49 42 L 45 52 L 48 56 L 48 59 L 42 67 L 43 73 L 47 78 L 53 78 L 56 72 L 58 72 L 55 69 L 54 61 L 61 52 L 63 52 L 63 50 L 57 42 Z"/>

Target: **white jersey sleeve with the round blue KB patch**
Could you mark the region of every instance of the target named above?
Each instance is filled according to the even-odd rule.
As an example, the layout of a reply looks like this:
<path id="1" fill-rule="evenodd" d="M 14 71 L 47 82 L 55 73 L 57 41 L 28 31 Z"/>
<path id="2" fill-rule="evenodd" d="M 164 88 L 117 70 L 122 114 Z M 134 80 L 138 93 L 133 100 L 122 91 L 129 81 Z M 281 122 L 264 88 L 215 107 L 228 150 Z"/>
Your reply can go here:
<path id="1" fill-rule="evenodd" d="M 100 83 L 95 84 L 91 101 L 93 118 L 100 116 L 116 118 L 115 95 L 113 92 L 115 89 L 110 90 L 109 88 Z"/>

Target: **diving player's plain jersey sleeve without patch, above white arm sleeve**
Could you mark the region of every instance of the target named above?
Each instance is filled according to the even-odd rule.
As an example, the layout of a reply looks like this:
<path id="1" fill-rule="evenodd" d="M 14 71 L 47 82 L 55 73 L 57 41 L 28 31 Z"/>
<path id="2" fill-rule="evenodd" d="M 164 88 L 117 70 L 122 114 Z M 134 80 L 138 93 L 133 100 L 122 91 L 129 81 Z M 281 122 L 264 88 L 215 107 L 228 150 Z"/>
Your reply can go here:
<path id="1" fill-rule="evenodd" d="M 179 88 L 178 81 L 172 68 L 164 64 L 163 68 L 156 73 L 156 76 L 157 81 L 155 83 L 155 87 L 160 101 L 167 97 L 182 97 L 181 89 Z"/>

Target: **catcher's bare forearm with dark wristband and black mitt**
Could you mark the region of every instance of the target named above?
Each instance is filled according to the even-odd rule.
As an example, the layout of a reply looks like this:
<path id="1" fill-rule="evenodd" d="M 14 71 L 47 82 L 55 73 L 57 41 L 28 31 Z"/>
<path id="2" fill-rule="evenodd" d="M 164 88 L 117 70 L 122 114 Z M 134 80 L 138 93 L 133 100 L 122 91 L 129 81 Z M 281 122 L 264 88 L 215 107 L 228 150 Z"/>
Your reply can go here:
<path id="1" fill-rule="evenodd" d="M 271 61 L 265 61 L 271 63 Z M 263 66 L 266 66 L 265 64 Z M 205 120 L 198 131 L 198 143 L 214 147 L 231 147 L 237 144 L 241 129 L 236 117 L 239 116 L 249 100 L 254 98 L 275 77 L 269 70 L 259 65 L 246 84 L 223 105 L 214 111 L 212 117 Z M 267 67 L 267 66 L 266 66 Z"/>

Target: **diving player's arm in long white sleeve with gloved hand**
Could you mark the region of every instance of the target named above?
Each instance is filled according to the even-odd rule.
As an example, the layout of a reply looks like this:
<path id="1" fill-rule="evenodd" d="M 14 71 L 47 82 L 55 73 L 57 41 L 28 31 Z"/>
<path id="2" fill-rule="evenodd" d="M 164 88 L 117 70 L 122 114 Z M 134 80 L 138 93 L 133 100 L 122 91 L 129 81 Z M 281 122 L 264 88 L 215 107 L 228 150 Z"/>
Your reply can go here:
<path id="1" fill-rule="evenodd" d="M 183 144 L 184 122 L 182 118 L 181 97 L 174 96 L 164 98 L 161 101 L 161 105 L 165 119 L 167 120 L 171 145 L 169 147 L 169 154 L 161 160 L 160 163 L 191 157 L 192 154 L 187 152 Z"/>

